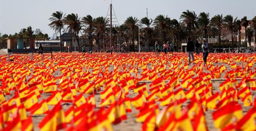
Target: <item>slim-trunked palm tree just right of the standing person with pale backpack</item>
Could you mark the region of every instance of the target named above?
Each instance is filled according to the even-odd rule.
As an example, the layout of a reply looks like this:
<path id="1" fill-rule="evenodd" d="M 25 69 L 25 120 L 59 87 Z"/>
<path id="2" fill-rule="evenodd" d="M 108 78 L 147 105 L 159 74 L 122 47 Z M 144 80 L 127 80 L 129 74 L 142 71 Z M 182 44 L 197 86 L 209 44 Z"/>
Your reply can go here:
<path id="1" fill-rule="evenodd" d="M 213 27 L 216 27 L 218 29 L 218 43 L 219 43 L 219 52 L 220 52 L 220 33 L 221 33 L 221 25 L 223 24 L 223 17 L 221 15 L 215 15 L 213 18 L 211 18 L 210 24 L 213 25 Z"/>

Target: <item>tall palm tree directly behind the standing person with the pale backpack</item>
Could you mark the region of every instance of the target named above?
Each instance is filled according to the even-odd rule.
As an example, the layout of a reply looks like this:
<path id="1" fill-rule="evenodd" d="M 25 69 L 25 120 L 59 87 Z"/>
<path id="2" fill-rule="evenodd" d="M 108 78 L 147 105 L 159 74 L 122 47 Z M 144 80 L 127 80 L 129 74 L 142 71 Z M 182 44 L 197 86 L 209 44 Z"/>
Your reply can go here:
<path id="1" fill-rule="evenodd" d="M 198 24 L 201 27 L 201 29 L 204 31 L 204 38 L 206 39 L 206 42 L 208 43 L 208 29 L 209 29 L 209 13 L 202 12 L 198 16 Z"/>

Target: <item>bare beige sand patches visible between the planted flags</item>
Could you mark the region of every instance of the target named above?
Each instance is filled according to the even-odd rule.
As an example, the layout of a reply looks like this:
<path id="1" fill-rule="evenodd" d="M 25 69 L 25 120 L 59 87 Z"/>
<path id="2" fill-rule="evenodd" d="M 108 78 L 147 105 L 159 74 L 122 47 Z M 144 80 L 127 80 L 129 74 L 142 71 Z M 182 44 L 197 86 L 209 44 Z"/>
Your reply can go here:
<path id="1" fill-rule="evenodd" d="M 217 64 L 214 63 L 214 67 L 216 66 Z M 240 62 L 237 62 L 237 65 L 241 65 Z M 192 67 L 193 65 L 189 65 L 189 69 Z M 221 63 L 218 64 L 218 66 L 220 67 L 221 66 Z M 230 65 L 227 65 L 227 64 L 224 64 L 225 67 L 227 67 L 227 71 L 230 71 L 231 68 L 230 68 Z M 151 64 L 148 65 L 148 67 L 150 68 L 151 67 Z M 254 71 L 254 68 L 256 68 L 256 64 L 254 64 L 253 66 L 253 71 Z M 112 71 L 114 69 L 114 66 L 110 66 L 109 67 L 109 71 Z M 85 68 L 83 69 L 84 71 L 86 70 Z M 89 70 L 90 72 L 92 71 L 92 69 Z M 121 69 L 121 71 L 123 71 L 123 69 Z M 139 68 L 138 70 L 138 78 L 141 77 L 140 75 L 140 72 L 142 72 L 142 69 Z M 203 72 L 208 72 L 206 71 L 205 69 L 203 69 Z M 31 70 L 31 76 L 33 75 L 33 72 Z M 216 93 L 216 92 L 220 92 L 220 89 L 219 89 L 219 86 L 221 84 L 221 82 L 224 81 L 224 76 L 225 76 L 225 73 L 222 73 L 221 74 L 221 79 L 215 79 L 214 81 L 212 81 L 213 83 L 213 93 Z M 53 75 L 55 77 L 59 77 L 62 75 L 61 71 L 58 69 L 57 71 L 55 71 L 53 73 Z M 133 73 L 131 75 L 134 75 Z M 29 79 L 31 76 L 27 76 L 27 79 Z M 239 80 L 240 82 L 240 80 Z M 149 84 L 150 82 L 147 82 L 147 87 L 149 89 Z M 102 88 L 102 91 L 103 91 L 103 88 Z M 255 97 L 256 96 L 256 92 L 255 91 L 251 91 L 252 92 L 252 96 Z M 41 98 L 38 99 L 38 101 L 42 101 L 42 99 L 47 99 L 48 97 L 50 96 L 50 94 L 41 94 Z M 88 97 L 89 95 L 87 94 L 84 94 L 85 97 Z M 134 94 L 133 93 L 133 90 L 130 90 L 129 91 L 129 95 L 128 97 L 135 97 L 137 96 L 137 94 Z M 6 100 L 9 100 L 11 97 L 13 97 L 13 91 L 11 92 L 11 95 L 10 96 L 5 96 Z M 97 104 L 97 109 L 99 109 L 99 104 L 101 102 L 100 100 L 100 95 L 99 95 L 99 92 L 97 92 L 97 94 L 95 94 L 95 100 L 96 100 L 96 104 Z M 241 105 L 242 104 L 242 101 L 241 99 L 239 99 L 239 103 Z M 159 102 L 157 102 L 157 104 L 159 104 Z M 184 105 L 187 105 L 188 104 L 188 101 L 185 102 L 183 104 Z M 64 111 L 66 111 L 69 107 L 71 106 L 71 103 L 62 103 L 62 107 L 64 109 Z M 54 106 L 48 106 L 49 109 L 52 109 Z M 141 126 L 142 126 L 142 123 L 137 123 L 136 122 L 136 114 L 138 114 L 138 110 L 136 110 L 133 106 L 132 107 L 132 112 L 131 113 L 127 113 L 127 119 L 122 121 L 121 123 L 119 124 L 112 124 L 112 128 L 114 129 L 114 131 L 140 131 L 141 130 Z M 244 107 L 242 106 L 242 109 L 243 109 L 243 113 L 246 114 L 247 111 L 250 109 L 251 107 Z M 162 106 L 159 106 L 159 109 L 163 109 Z M 218 130 L 214 127 L 214 124 L 213 124 L 213 119 L 212 119 L 212 113 L 214 112 L 214 110 L 208 110 L 205 112 L 205 117 L 206 117 L 206 122 L 207 122 L 207 128 L 209 129 L 209 131 L 215 131 L 215 130 Z M 29 112 L 27 113 L 29 115 Z M 33 115 L 32 116 L 32 119 L 33 119 L 33 125 L 34 125 L 34 130 L 37 131 L 39 130 L 38 128 L 38 123 L 40 123 L 40 121 L 45 117 L 45 115 Z"/>

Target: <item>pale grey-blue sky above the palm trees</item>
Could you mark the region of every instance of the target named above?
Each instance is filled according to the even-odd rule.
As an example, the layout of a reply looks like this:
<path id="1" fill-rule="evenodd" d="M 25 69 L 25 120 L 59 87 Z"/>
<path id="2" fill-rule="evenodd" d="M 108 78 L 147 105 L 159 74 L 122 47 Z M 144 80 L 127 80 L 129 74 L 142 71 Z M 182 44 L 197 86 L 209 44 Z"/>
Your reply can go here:
<path id="1" fill-rule="evenodd" d="M 93 18 L 109 18 L 110 3 L 111 0 L 0 0 L 0 33 L 14 34 L 31 26 L 32 30 L 40 29 L 51 37 L 55 33 L 48 26 L 52 13 L 62 11 L 66 15 L 77 13 L 81 18 L 88 14 Z M 180 20 L 186 10 L 194 11 L 197 16 L 209 12 L 210 18 L 230 14 L 239 19 L 247 16 L 250 20 L 256 15 L 255 5 L 256 0 L 112 0 L 120 25 L 130 16 L 146 17 L 147 9 L 148 18 L 153 20 L 159 14 Z"/>

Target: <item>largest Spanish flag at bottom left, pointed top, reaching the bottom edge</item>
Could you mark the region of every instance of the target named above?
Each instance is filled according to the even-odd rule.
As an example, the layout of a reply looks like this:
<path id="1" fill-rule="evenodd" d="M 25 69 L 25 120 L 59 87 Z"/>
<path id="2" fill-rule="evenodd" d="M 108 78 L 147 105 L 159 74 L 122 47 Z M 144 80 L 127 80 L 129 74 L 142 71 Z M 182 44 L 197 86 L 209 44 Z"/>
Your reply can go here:
<path id="1" fill-rule="evenodd" d="M 57 131 L 66 128 L 65 114 L 59 102 L 38 124 L 42 131 Z"/>

